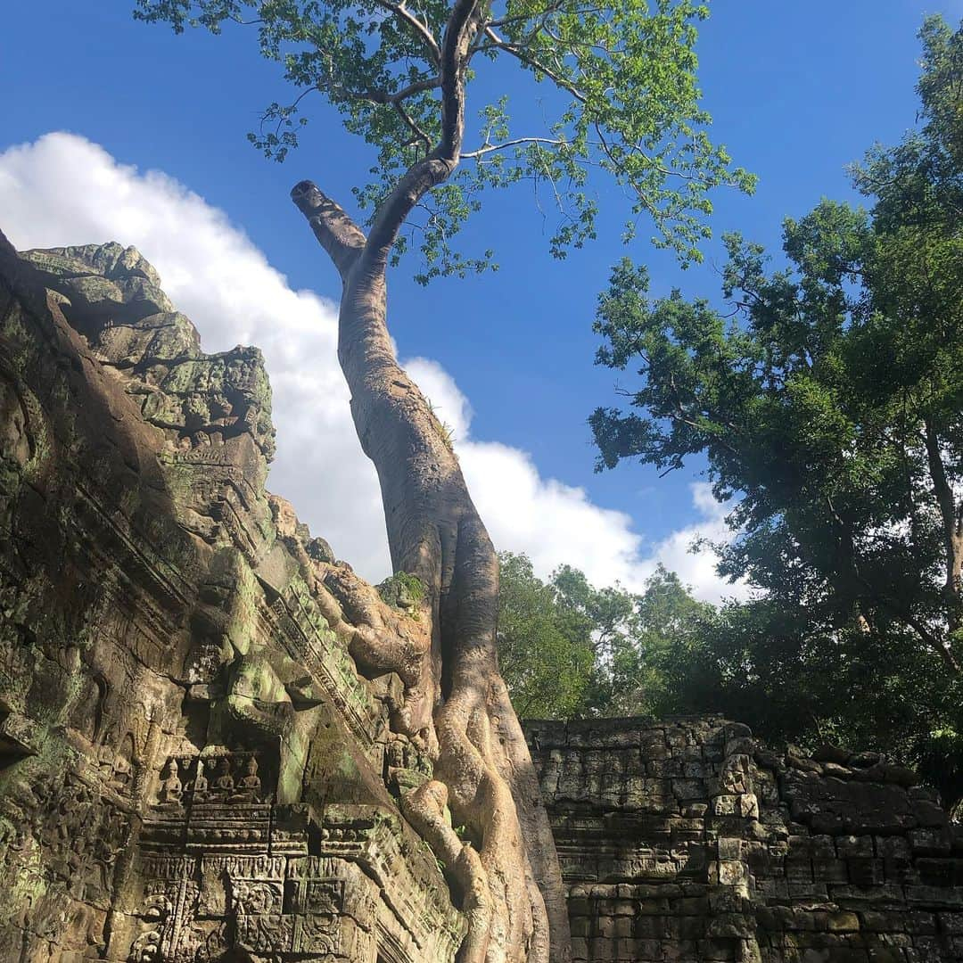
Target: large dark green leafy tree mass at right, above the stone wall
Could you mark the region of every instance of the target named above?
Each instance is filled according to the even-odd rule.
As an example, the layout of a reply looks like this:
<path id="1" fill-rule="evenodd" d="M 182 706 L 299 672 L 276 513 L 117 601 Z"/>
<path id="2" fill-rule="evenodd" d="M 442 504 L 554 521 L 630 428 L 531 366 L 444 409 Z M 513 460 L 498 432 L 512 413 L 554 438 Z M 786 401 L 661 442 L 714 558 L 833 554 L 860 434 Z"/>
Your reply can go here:
<path id="1" fill-rule="evenodd" d="M 614 270 L 598 360 L 639 382 L 633 410 L 590 420 L 600 466 L 704 456 L 733 502 L 720 568 L 760 597 L 710 633 L 726 707 L 891 740 L 959 794 L 963 31 L 934 17 L 920 37 L 919 129 L 853 172 L 869 211 L 786 221 L 782 270 L 728 237 L 724 313 Z"/>

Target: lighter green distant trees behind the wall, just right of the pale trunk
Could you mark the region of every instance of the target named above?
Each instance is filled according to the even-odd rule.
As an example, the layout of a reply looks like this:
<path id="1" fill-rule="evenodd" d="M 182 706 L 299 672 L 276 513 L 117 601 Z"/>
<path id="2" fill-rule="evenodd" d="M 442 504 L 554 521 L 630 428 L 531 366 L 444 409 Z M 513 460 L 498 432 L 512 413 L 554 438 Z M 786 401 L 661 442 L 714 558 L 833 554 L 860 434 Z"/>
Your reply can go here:
<path id="1" fill-rule="evenodd" d="M 595 588 L 563 565 L 545 583 L 524 555 L 500 557 L 499 658 L 519 716 L 657 716 L 677 710 L 679 666 L 702 620 L 695 601 L 660 567 L 645 591 Z"/>

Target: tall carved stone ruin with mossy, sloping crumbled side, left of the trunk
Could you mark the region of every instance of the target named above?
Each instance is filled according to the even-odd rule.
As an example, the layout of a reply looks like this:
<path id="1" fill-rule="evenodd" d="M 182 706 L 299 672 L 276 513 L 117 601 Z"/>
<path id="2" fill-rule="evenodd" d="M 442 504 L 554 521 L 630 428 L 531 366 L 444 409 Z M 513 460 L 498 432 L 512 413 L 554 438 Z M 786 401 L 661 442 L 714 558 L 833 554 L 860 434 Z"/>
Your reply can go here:
<path id="1" fill-rule="evenodd" d="M 0 235 L 0 960 L 454 957 L 270 405 L 134 248 Z"/>

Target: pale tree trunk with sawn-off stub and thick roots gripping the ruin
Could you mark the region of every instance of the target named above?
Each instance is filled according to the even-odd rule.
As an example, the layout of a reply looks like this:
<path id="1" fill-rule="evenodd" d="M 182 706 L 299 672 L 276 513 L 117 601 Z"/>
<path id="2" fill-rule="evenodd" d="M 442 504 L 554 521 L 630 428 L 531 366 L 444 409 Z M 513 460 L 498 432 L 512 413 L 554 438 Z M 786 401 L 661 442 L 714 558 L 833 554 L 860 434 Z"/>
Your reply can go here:
<path id="1" fill-rule="evenodd" d="M 451 169 L 438 158 L 425 167 L 409 172 L 408 200 Z M 403 798 L 403 810 L 455 879 L 470 924 L 462 963 L 563 963 L 571 951 L 558 858 L 498 668 L 498 560 L 451 442 L 398 364 L 385 322 L 394 233 L 378 238 L 376 219 L 365 238 L 309 182 L 292 196 L 342 277 L 338 357 L 377 468 L 393 566 L 427 588 L 422 649 L 372 657 L 384 668 L 397 656 L 406 685 L 397 724 L 435 757 L 434 777 Z M 477 850 L 444 820 L 446 805 Z"/>

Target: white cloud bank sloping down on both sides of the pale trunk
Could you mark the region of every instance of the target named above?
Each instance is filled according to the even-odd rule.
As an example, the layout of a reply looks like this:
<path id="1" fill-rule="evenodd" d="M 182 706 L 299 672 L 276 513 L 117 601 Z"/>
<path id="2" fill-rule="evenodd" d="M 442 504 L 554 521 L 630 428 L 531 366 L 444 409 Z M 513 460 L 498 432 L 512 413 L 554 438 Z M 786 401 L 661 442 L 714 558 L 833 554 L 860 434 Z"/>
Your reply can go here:
<path id="1" fill-rule="evenodd" d="M 206 351 L 259 346 L 273 384 L 273 491 L 367 578 L 387 574 L 377 477 L 351 425 L 331 301 L 292 290 L 222 211 L 177 181 L 118 164 L 75 135 L 48 134 L 0 153 L 0 212 L 0 226 L 21 249 L 135 245 L 195 322 Z M 499 548 L 528 553 L 542 575 L 569 562 L 600 586 L 638 588 L 663 561 L 702 598 L 744 594 L 720 582 L 710 556 L 688 552 L 696 535 L 726 534 L 707 485 L 692 486 L 695 524 L 646 545 L 624 512 L 543 478 L 523 451 L 473 439 L 471 405 L 436 362 L 414 358 L 406 367 L 453 429 L 469 488 Z"/>

